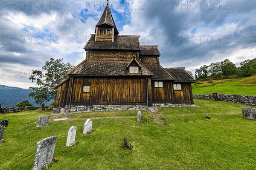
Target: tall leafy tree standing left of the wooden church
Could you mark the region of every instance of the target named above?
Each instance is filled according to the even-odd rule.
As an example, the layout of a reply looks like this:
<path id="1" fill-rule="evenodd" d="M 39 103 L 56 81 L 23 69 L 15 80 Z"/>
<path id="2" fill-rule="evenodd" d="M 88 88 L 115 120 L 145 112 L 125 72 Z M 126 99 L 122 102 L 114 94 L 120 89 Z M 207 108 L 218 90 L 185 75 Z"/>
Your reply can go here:
<path id="1" fill-rule="evenodd" d="M 50 58 L 50 61 L 46 61 L 45 66 L 42 70 L 34 70 L 29 80 L 32 83 L 36 82 L 38 87 L 29 87 L 33 91 L 30 92 L 29 97 L 34 98 L 35 103 L 41 104 L 43 102 L 50 101 L 56 98 L 56 89 L 53 89 L 55 85 L 59 84 L 65 78 L 68 77 L 66 74 L 74 66 L 70 63 L 64 63 L 63 59 Z"/>

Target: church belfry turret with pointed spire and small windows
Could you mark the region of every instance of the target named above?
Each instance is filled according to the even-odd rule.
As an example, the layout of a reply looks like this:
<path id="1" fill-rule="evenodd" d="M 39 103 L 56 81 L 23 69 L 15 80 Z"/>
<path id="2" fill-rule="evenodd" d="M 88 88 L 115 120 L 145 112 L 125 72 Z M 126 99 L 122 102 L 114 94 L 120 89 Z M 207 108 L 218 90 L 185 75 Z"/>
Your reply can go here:
<path id="1" fill-rule="evenodd" d="M 114 42 L 114 36 L 118 34 L 107 0 L 107 6 L 96 25 L 95 41 Z"/>

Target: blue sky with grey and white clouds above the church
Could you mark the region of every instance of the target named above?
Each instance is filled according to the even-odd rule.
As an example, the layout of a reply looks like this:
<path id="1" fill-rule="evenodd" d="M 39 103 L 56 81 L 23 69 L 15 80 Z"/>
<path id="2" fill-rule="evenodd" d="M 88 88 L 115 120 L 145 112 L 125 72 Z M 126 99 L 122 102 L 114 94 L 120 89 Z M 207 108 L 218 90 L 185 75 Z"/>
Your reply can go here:
<path id="1" fill-rule="evenodd" d="M 49 58 L 77 65 L 106 1 L 0 1 L 0 84 L 28 89 L 33 69 Z M 110 0 L 120 35 L 159 45 L 163 67 L 256 57 L 255 0 Z"/>

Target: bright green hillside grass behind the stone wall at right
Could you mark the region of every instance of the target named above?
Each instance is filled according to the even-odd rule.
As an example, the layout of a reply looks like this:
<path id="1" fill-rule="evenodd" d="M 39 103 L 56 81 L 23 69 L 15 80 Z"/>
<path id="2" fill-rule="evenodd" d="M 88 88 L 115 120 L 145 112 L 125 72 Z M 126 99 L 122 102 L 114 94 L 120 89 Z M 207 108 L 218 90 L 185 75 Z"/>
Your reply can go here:
<path id="1" fill-rule="evenodd" d="M 218 92 L 230 95 L 256 95 L 256 76 L 239 79 L 198 81 L 192 84 L 193 94 Z"/>

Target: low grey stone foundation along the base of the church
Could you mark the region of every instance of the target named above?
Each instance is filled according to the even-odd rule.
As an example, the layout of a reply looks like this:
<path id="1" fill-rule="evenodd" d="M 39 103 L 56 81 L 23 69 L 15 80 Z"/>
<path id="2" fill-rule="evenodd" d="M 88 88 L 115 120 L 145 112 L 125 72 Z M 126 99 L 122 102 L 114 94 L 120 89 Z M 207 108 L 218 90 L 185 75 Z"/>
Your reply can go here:
<path id="1" fill-rule="evenodd" d="M 160 104 L 155 103 L 153 106 L 147 108 L 145 105 L 66 105 L 65 107 L 56 107 L 52 109 L 52 115 L 102 111 L 102 110 L 149 110 L 151 112 L 157 111 L 155 107 L 196 107 L 193 104 Z"/>

